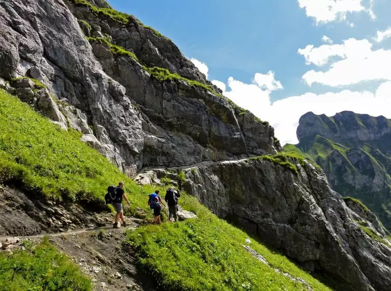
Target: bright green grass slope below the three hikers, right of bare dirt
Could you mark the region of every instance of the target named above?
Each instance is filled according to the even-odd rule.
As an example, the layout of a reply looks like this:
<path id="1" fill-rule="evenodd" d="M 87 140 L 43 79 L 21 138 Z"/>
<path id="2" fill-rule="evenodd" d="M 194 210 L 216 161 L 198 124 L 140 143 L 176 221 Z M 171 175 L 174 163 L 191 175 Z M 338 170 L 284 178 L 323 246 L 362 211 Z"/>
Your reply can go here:
<path id="1" fill-rule="evenodd" d="M 151 272 L 162 289 L 201 290 L 305 290 L 271 266 L 252 257 L 243 247 L 243 231 L 218 219 L 195 198 L 181 196 L 181 205 L 198 219 L 146 226 L 131 231 L 127 243 L 139 263 Z M 251 240 L 250 247 L 274 267 L 308 281 L 314 290 L 329 290 L 285 256 Z"/>

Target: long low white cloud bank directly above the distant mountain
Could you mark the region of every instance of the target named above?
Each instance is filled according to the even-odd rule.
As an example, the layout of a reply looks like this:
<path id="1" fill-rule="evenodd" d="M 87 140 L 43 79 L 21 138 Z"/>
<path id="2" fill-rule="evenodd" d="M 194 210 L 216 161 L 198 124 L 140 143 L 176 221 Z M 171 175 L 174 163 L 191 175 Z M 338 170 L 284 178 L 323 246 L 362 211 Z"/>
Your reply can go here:
<path id="1" fill-rule="evenodd" d="M 250 110 L 275 129 L 282 144 L 297 143 L 296 128 L 300 117 L 312 111 L 329 116 L 344 110 L 391 118 L 391 82 L 379 86 L 376 94 L 343 90 L 325 94 L 306 93 L 270 102 L 270 92 L 256 84 L 245 84 L 230 77 L 223 94 L 239 106 Z"/>

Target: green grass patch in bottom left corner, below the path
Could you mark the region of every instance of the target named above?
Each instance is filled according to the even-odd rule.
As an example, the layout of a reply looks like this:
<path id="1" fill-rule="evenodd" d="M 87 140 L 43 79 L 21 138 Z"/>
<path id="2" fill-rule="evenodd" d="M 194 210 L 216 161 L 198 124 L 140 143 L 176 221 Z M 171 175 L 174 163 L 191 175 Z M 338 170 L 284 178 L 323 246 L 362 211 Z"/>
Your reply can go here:
<path id="1" fill-rule="evenodd" d="M 78 266 L 58 252 L 47 240 L 25 250 L 0 252 L 0 290 L 88 291 L 91 281 Z"/>

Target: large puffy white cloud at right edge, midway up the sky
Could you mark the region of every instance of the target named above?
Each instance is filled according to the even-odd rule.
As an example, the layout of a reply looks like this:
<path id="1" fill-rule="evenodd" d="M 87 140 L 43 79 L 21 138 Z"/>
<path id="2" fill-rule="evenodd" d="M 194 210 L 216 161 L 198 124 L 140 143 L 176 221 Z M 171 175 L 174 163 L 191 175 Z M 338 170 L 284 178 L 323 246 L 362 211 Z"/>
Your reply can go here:
<path id="1" fill-rule="evenodd" d="M 354 38 L 343 44 L 309 45 L 299 50 L 307 64 L 325 65 L 330 58 L 337 56 L 342 60 L 333 62 L 326 71 L 310 70 L 303 76 L 308 84 L 319 83 L 338 87 L 357 84 L 364 81 L 391 80 L 391 51 L 383 48 L 373 51 L 372 44 L 366 40 Z"/>

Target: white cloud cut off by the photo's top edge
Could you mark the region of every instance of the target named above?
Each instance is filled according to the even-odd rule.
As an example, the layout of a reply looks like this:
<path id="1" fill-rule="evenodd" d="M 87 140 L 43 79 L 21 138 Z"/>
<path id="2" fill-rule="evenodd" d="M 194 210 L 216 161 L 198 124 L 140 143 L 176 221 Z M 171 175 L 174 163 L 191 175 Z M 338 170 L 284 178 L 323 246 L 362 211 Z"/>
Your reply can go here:
<path id="1" fill-rule="evenodd" d="M 307 16 L 315 18 L 317 24 L 345 20 L 348 12 L 365 10 L 361 0 L 298 0 L 298 5 L 305 8 Z"/>

